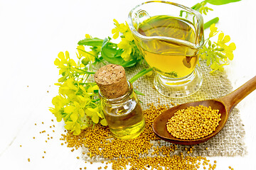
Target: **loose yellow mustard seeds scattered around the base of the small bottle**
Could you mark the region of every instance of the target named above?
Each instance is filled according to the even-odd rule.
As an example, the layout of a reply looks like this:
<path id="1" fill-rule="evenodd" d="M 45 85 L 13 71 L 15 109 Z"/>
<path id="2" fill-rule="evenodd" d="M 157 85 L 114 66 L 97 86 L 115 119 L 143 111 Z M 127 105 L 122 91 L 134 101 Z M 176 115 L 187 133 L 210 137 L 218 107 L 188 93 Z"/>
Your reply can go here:
<path id="1" fill-rule="evenodd" d="M 196 170 L 198 167 L 200 168 L 201 164 L 203 164 L 203 169 L 206 169 L 206 165 L 210 162 L 206 157 L 184 155 L 184 151 L 174 155 L 174 152 L 178 150 L 177 145 L 153 147 L 151 141 L 159 142 L 159 138 L 154 135 L 151 125 L 159 114 L 166 111 L 167 107 L 160 105 L 156 107 L 153 104 L 148 106 L 149 109 L 143 111 L 146 120 L 144 131 L 139 137 L 132 140 L 113 139 L 110 130 L 102 125 L 85 128 L 80 135 L 73 135 L 68 130 L 65 135 L 62 134 L 60 140 L 67 142 L 66 146 L 73 147 L 72 150 L 86 146 L 90 152 L 85 152 L 85 154 L 91 158 L 102 156 L 110 160 L 105 164 L 112 163 L 112 169 L 127 169 L 127 165 L 129 165 L 130 169 L 184 169 L 186 167 L 186 169 Z M 150 153 L 151 157 L 140 157 L 141 154 L 149 154 L 149 149 L 153 149 L 153 153 Z M 193 152 L 193 147 L 185 149 L 186 152 Z M 90 164 L 92 163 L 90 162 Z M 215 165 L 210 169 L 214 168 Z M 107 169 L 107 166 L 104 169 Z"/>

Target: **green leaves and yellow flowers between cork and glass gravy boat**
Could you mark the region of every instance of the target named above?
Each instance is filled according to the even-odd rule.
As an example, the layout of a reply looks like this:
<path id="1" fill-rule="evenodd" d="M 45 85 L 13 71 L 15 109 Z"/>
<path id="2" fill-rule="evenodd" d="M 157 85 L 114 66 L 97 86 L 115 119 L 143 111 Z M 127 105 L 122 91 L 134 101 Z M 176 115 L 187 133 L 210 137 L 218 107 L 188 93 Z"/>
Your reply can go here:
<path id="1" fill-rule="evenodd" d="M 119 64 L 123 67 L 133 67 L 135 64 L 143 60 L 141 52 L 135 45 L 134 38 L 127 23 L 118 23 L 114 19 L 114 28 L 112 29 L 113 38 L 120 38 L 121 41 L 117 44 L 112 42 L 112 38 L 108 37 L 104 40 L 100 38 L 92 38 L 85 36 L 84 40 L 80 40 L 78 45 L 80 51 L 87 53 L 85 47 L 90 47 L 91 50 L 96 49 L 92 56 L 95 57 L 95 62 L 110 62 Z M 95 63 L 94 62 L 94 63 Z"/>

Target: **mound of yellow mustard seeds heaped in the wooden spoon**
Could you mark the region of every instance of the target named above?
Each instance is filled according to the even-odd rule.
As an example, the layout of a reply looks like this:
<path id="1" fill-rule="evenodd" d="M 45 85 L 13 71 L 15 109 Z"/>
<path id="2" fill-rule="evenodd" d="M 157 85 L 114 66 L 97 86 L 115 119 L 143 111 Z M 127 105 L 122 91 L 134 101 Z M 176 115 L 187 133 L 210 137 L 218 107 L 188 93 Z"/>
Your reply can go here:
<path id="1" fill-rule="evenodd" d="M 178 110 L 168 120 L 169 133 L 181 140 L 196 140 L 213 133 L 220 122 L 218 110 L 206 106 L 191 106 Z"/>

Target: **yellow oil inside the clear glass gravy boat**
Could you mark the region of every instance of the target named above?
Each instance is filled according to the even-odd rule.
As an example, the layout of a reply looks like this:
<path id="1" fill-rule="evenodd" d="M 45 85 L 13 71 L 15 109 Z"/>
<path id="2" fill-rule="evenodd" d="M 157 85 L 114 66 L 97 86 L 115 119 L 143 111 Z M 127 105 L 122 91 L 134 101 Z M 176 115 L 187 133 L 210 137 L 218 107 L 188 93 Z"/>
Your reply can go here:
<path id="1" fill-rule="evenodd" d="M 166 76 L 181 78 L 191 74 L 198 62 L 196 50 L 182 43 L 162 40 L 161 37 L 186 40 L 195 43 L 196 33 L 193 24 L 183 18 L 173 16 L 154 16 L 143 21 L 138 32 L 147 37 L 159 36 L 151 40 L 140 40 L 138 45 L 144 53 L 146 62 L 156 72 Z"/>

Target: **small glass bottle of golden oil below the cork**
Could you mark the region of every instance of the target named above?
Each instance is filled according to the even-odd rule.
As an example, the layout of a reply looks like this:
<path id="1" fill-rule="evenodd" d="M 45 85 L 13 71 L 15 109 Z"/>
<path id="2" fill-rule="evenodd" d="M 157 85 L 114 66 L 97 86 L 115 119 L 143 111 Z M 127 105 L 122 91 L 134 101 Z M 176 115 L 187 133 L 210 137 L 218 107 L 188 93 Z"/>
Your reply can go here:
<path id="1" fill-rule="evenodd" d="M 106 98 L 100 93 L 102 111 L 107 120 L 110 132 L 114 137 L 129 140 L 139 136 L 145 128 L 142 107 L 132 84 L 127 81 L 127 92 L 118 98 Z"/>

